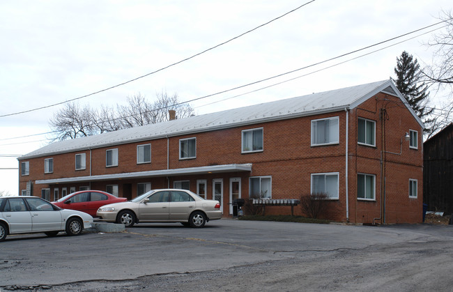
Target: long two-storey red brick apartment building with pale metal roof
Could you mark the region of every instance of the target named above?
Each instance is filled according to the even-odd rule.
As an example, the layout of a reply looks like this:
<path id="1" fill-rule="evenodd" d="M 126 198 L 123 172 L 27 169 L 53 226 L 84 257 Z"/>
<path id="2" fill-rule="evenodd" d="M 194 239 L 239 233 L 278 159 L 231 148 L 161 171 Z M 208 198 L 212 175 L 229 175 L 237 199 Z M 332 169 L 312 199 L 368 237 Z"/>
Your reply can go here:
<path id="1" fill-rule="evenodd" d="M 19 187 L 49 200 L 185 188 L 221 201 L 226 217 L 235 198 L 324 192 L 331 220 L 417 223 L 423 128 L 386 80 L 59 141 L 18 158 Z"/>

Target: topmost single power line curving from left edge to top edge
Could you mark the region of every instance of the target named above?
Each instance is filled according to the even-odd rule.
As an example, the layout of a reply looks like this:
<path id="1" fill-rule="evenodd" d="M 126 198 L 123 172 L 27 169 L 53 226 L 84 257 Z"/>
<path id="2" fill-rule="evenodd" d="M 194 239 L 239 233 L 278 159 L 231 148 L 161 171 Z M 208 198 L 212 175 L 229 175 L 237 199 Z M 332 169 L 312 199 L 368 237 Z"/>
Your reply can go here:
<path id="1" fill-rule="evenodd" d="M 218 44 L 218 45 L 215 45 L 214 47 L 210 47 L 209 49 L 205 49 L 204 51 L 199 52 L 198 54 L 194 54 L 193 56 L 187 57 L 187 58 L 185 58 L 185 59 L 183 59 L 183 60 L 181 60 L 181 61 L 177 61 L 176 63 L 172 63 L 172 64 L 170 64 L 170 65 L 168 65 L 168 66 L 165 66 L 165 67 L 163 67 L 163 68 L 160 68 L 160 69 L 155 70 L 155 71 L 153 71 L 153 72 L 150 72 L 150 73 L 148 73 L 148 74 L 141 75 L 141 76 L 139 76 L 139 77 L 137 77 L 137 78 L 130 79 L 130 80 L 126 81 L 126 82 L 123 82 L 123 83 L 120 83 L 120 84 L 116 84 L 116 85 L 114 85 L 114 86 L 110 86 L 110 87 L 108 87 L 107 89 L 101 89 L 100 91 L 95 91 L 95 92 L 93 92 L 93 93 L 89 93 L 89 94 L 87 94 L 87 95 L 83 95 L 83 96 L 80 96 L 80 97 L 78 97 L 78 98 L 72 98 L 72 99 L 70 99 L 70 100 L 66 100 L 66 101 L 63 101 L 63 102 L 54 103 L 53 105 L 46 105 L 46 106 L 44 106 L 44 107 L 37 107 L 36 109 L 28 109 L 28 110 L 22 111 L 22 112 L 15 112 L 15 113 L 12 113 L 12 114 L 3 114 L 3 115 L 0 116 L 0 118 L 3 118 L 3 117 L 5 117 L 5 116 L 15 116 L 15 115 L 17 115 L 17 114 L 25 114 L 25 113 L 27 113 L 27 112 L 34 112 L 34 111 L 37 111 L 37 110 L 39 110 L 39 109 L 47 109 L 47 108 L 49 108 L 49 107 L 54 107 L 54 106 L 56 106 L 56 105 L 63 105 L 64 103 L 67 103 L 67 102 L 72 102 L 72 101 L 74 101 L 74 100 L 80 100 L 80 99 L 82 99 L 82 98 L 87 98 L 87 97 L 89 97 L 89 96 L 91 96 L 91 95 L 95 95 L 95 94 L 98 94 L 98 93 L 101 93 L 101 92 L 104 92 L 104 91 L 108 91 L 108 90 L 110 90 L 110 89 L 114 89 L 114 88 L 119 87 L 119 86 L 123 86 L 123 85 L 125 85 L 125 84 L 130 83 L 130 82 L 137 81 L 138 79 L 147 77 L 147 76 L 149 76 L 149 75 L 153 75 L 153 74 L 155 74 L 155 73 L 157 73 L 157 72 L 160 72 L 160 71 L 165 70 L 165 69 L 167 69 L 167 68 L 170 68 L 170 67 L 172 67 L 172 66 L 178 65 L 179 63 L 183 63 L 184 61 L 188 61 L 188 60 L 190 60 L 190 59 L 193 59 L 194 57 L 199 56 L 199 55 L 201 55 L 201 54 L 204 54 L 204 53 L 206 53 L 206 52 L 208 52 L 208 51 L 210 51 L 210 50 L 212 50 L 212 49 L 215 49 L 215 48 L 217 48 L 217 47 L 220 47 L 220 46 L 222 46 L 222 45 L 225 45 L 225 44 L 227 44 L 227 43 L 230 43 L 231 41 L 236 40 L 237 38 L 240 38 L 241 36 L 245 36 L 247 33 L 251 33 L 252 31 L 256 31 L 256 29 L 260 29 L 261 27 L 266 26 L 267 24 L 270 24 L 271 22 L 274 22 L 275 20 L 279 20 L 280 18 L 282 18 L 282 17 L 284 17 L 284 16 L 286 16 L 286 15 L 289 15 L 289 13 L 293 13 L 295 10 L 298 10 L 298 9 L 300 9 L 300 8 L 306 6 L 306 5 L 308 5 L 309 3 L 312 3 L 312 2 L 314 2 L 314 1 L 316 1 L 316 0 L 312 0 L 312 1 L 309 1 L 309 2 L 307 2 L 307 3 L 304 3 L 304 4 L 302 4 L 301 6 L 299 6 L 298 8 L 294 8 L 293 10 L 291 10 L 291 11 L 289 11 L 289 12 L 287 12 L 287 13 L 284 13 L 283 15 L 280 15 L 279 17 L 275 17 L 273 20 L 270 20 L 270 21 L 268 21 L 268 22 L 266 22 L 266 23 L 264 23 L 264 24 L 261 24 L 261 25 L 259 25 L 259 26 L 256 26 L 254 29 L 250 29 L 249 31 L 245 31 L 245 33 L 241 33 L 239 36 L 235 36 L 234 38 L 231 38 L 231 39 L 229 39 L 229 40 L 227 40 L 227 41 L 224 41 L 223 43 L 220 43 L 220 44 Z"/>

